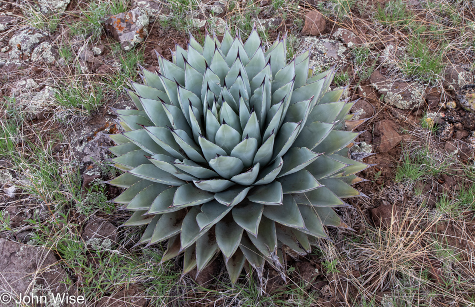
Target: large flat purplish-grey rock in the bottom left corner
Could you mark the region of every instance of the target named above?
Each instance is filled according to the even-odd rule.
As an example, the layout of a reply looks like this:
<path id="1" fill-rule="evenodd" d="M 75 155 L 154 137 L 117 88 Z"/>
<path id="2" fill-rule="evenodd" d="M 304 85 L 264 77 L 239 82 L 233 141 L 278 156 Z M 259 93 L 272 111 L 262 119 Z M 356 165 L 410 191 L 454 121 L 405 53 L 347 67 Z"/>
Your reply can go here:
<path id="1" fill-rule="evenodd" d="M 14 307 L 19 296 L 45 295 L 43 303 L 53 302 L 56 293 L 74 293 L 66 287 L 68 278 L 62 267 L 56 264 L 53 252 L 42 247 L 34 247 L 0 238 L 0 295 L 9 293 L 11 300 L 2 301 L 1 306 Z M 3 297 L 8 295 L 4 294 Z M 42 304 L 35 304 L 42 305 Z M 44 304 L 46 305 L 46 304 Z M 54 306 L 66 306 L 66 303 Z"/>

